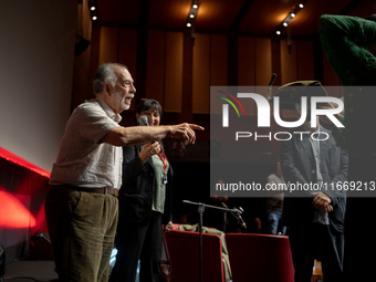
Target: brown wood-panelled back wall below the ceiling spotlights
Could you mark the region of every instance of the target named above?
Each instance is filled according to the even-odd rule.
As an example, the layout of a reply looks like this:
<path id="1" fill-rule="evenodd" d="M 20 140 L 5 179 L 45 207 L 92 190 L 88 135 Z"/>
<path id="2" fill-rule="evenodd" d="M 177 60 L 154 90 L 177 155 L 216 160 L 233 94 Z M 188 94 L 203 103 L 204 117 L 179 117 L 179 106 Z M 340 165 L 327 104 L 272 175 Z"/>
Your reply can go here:
<path id="1" fill-rule="evenodd" d="M 97 53 L 91 56 L 92 73 L 104 62 L 127 65 L 137 88 L 130 111 L 140 97 L 153 97 L 161 103 L 165 113 L 180 116 L 186 111 L 185 101 L 189 95 L 190 115 L 208 115 L 210 86 L 265 86 L 272 73 L 276 73 L 275 83 L 280 85 L 297 80 L 321 80 L 324 85 L 340 83 L 326 58 L 322 53 L 317 55 L 322 50 L 314 50 L 313 39 L 280 39 L 279 51 L 275 52 L 272 46 L 275 39 L 270 38 L 237 36 L 237 42 L 233 42 L 227 34 L 196 33 L 192 40 L 187 35 L 188 31 L 139 31 L 117 27 L 94 29 L 93 44 L 98 48 L 94 46 Z M 139 52 L 145 46 L 145 55 L 140 56 Z M 237 62 L 233 62 L 231 52 L 237 53 Z M 317 58 L 323 61 L 322 70 L 315 70 Z M 273 64 L 273 60 L 279 63 Z M 191 75 L 184 73 L 185 67 L 191 70 Z M 229 81 L 234 73 L 236 81 Z M 143 85 L 139 85 L 140 82 Z M 187 92 L 184 85 L 191 85 L 191 91 Z M 92 93 L 77 95 L 82 95 L 81 101 L 84 101 Z M 252 115 L 255 115 L 255 108 Z"/>

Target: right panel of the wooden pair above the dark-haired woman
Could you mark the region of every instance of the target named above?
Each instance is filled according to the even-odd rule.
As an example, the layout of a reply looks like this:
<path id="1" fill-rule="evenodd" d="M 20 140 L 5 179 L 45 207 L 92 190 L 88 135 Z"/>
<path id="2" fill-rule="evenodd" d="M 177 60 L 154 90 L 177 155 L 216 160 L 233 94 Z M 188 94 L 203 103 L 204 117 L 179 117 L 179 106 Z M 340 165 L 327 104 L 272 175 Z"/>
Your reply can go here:
<path id="1" fill-rule="evenodd" d="M 164 111 L 181 113 L 182 33 L 166 33 Z"/>

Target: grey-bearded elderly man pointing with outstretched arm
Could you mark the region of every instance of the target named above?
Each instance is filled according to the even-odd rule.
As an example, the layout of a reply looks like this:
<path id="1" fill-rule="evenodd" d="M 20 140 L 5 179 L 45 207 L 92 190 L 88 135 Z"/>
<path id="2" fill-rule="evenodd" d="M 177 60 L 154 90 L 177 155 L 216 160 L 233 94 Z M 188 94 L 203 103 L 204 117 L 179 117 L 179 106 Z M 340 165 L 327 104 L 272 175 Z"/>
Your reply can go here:
<path id="1" fill-rule="evenodd" d="M 192 124 L 119 126 L 136 93 L 125 65 L 107 63 L 93 80 L 95 98 L 79 105 L 67 121 L 45 216 L 59 281 L 108 280 L 111 252 L 118 218 L 122 186 L 122 146 L 142 145 L 165 137 L 195 143 Z"/>

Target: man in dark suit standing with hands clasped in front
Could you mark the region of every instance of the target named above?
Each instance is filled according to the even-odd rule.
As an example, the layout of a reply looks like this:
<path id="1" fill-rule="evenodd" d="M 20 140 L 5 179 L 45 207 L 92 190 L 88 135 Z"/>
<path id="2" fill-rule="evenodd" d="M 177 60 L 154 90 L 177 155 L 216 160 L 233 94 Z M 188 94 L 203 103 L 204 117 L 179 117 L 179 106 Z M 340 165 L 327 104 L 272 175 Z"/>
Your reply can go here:
<path id="1" fill-rule="evenodd" d="M 310 96 L 312 91 L 296 93 Z M 325 281 L 340 281 L 346 207 L 341 188 L 347 177 L 348 156 L 318 118 L 316 126 L 311 126 L 310 114 L 303 126 L 293 132 L 300 134 L 292 134 L 281 144 L 281 166 L 288 189 L 291 188 L 285 194 L 283 220 L 290 228 L 295 281 L 311 282 L 318 250 Z"/>

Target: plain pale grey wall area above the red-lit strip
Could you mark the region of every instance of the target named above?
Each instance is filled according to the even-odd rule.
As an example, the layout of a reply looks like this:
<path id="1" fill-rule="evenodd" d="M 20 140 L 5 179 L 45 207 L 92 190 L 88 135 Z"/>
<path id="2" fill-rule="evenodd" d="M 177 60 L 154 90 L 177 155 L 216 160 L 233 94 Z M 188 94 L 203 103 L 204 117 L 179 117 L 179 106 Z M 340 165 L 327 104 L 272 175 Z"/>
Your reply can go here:
<path id="1" fill-rule="evenodd" d="M 75 1 L 1 1 L 0 147 L 51 170 L 70 115 Z"/>

